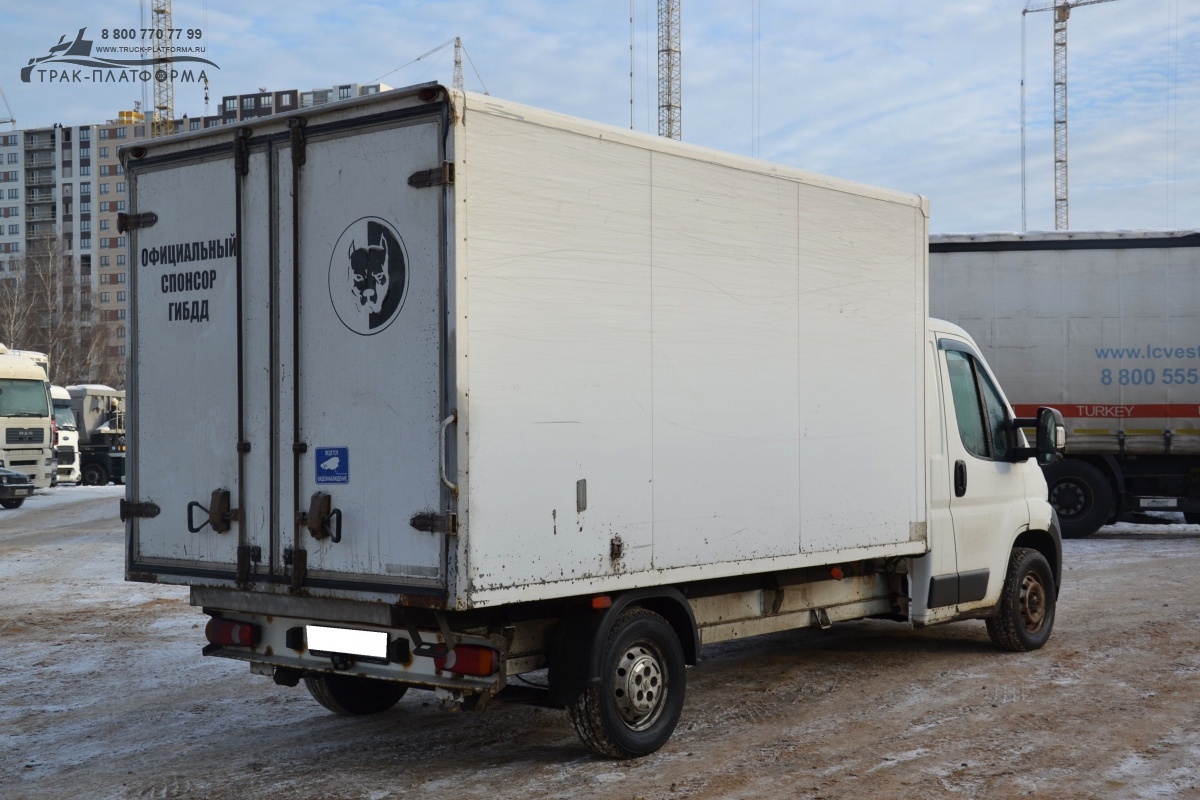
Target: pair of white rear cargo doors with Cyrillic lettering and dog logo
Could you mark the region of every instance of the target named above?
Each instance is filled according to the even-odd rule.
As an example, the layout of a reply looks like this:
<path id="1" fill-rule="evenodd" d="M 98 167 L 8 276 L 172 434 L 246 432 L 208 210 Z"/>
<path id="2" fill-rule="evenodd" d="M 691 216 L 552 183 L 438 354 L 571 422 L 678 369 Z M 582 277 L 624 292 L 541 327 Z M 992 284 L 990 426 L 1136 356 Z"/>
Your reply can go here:
<path id="1" fill-rule="evenodd" d="M 444 591 L 444 107 L 362 110 L 130 161 L 131 573 Z"/>

